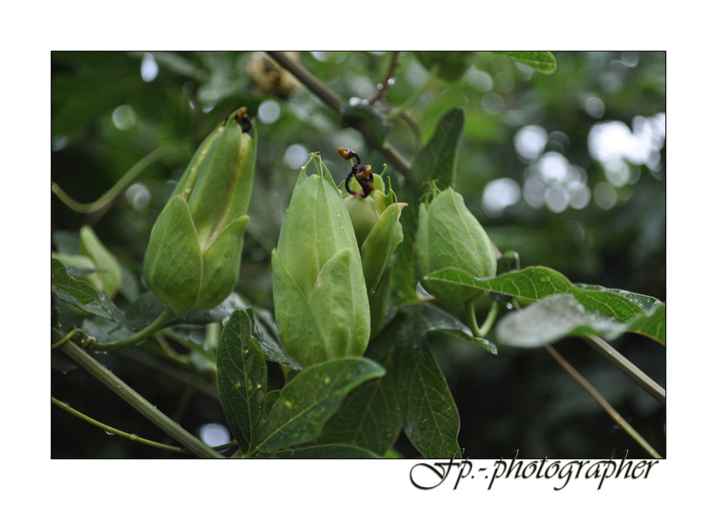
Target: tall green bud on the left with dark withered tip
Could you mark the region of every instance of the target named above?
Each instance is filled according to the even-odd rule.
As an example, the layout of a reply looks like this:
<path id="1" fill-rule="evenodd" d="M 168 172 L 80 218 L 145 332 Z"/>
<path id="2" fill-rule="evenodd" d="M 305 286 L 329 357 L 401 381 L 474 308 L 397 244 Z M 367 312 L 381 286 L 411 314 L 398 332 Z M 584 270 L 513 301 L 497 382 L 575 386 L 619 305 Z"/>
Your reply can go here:
<path id="1" fill-rule="evenodd" d="M 256 160 L 251 126 L 241 108 L 206 137 L 152 228 L 144 278 L 178 317 L 217 306 L 237 283 Z"/>

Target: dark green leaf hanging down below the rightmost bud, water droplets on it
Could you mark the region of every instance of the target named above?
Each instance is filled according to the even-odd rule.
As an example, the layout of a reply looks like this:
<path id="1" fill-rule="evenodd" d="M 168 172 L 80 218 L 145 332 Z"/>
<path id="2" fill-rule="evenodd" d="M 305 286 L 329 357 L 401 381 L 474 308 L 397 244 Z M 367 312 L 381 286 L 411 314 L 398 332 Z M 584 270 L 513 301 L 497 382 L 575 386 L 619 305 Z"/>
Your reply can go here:
<path id="1" fill-rule="evenodd" d="M 404 307 L 394 322 L 397 393 L 406 436 L 424 457 L 450 458 L 460 449 L 460 417 L 425 336 L 437 329 L 460 329 L 460 322 L 430 304 Z"/>

